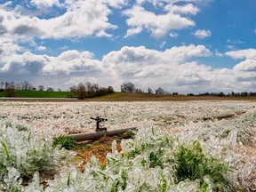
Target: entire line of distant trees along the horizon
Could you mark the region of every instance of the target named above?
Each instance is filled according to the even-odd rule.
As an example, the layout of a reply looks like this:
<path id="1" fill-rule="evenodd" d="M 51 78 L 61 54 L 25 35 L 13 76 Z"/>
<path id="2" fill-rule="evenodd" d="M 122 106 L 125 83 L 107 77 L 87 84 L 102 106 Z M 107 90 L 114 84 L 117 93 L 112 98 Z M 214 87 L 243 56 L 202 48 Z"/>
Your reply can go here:
<path id="1" fill-rule="evenodd" d="M 85 98 L 92 98 L 96 96 L 102 96 L 109 93 L 115 92 L 112 86 L 108 87 L 100 87 L 99 84 L 92 84 L 90 82 L 86 82 L 85 84 L 77 84 L 69 88 L 70 89 L 70 97 L 76 97 L 78 99 L 84 100 Z M 14 97 L 16 90 L 30 90 L 36 91 L 36 87 L 30 84 L 28 81 L 23 81 L 20 83 L 15 82 L 4 82 L 0 81 L 0 92 L 4 92 L 5 97 Z M 52 87 L 44 88 L 44 85 L 39 85 L 37 88 L 38 91 L 47 91 L 54 92 Z M 60 88 L 58 89 L 61 92 Z M 180 95 L 179 92 L 166 92 L 164 88 L 158 87 L 156 90 L 148 87 L 147 92 L 144 92 L 140 88 L 137 88 L 135 84 L 131 82 L 124 82 L 121 84 L 121 92 L 143 92 L 148 94 L 156 94 L 156 95 Z M 256 96 L 256 92 L 204 92 L 199 94 L 188 93 L 188 96 L 216 96 L 216 97 L 249 97 Z"/>

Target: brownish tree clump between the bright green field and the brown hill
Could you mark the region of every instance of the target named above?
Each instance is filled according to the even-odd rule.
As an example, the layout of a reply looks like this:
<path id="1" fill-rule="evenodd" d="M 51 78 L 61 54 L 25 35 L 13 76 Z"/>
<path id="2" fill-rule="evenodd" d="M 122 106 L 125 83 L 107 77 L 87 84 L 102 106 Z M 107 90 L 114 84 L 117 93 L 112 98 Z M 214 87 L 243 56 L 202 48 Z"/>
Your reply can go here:
<path id="1" fill-rule="evenodd" d="M 100 87 L 99 84 L 92 84 L 86 82 L 85 84 L 78 84 L 70 87 L 70 92 L 72 92 L 71 97 L 76 97 L 79 100 L 84 100 L 85 98 L 92 98 L 96 96 L 102 96 L 115 92 L 112 86 Z"/>

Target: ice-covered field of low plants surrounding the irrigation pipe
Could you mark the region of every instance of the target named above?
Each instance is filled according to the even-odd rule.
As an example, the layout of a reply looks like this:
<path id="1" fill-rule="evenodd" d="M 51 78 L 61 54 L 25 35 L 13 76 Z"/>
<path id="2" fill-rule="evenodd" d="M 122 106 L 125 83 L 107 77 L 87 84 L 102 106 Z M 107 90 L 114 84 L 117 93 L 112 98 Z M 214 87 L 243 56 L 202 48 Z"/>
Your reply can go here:
<path id="1" fill-rule="evenodd" d="M 256 191 L 256 106 L 249 101 L 0 102 L 0 191 Z M 79 171 L 54 135 L 137 126 L 106 167 Z M 55 177 L 47 178 L 49 172 Z"/>

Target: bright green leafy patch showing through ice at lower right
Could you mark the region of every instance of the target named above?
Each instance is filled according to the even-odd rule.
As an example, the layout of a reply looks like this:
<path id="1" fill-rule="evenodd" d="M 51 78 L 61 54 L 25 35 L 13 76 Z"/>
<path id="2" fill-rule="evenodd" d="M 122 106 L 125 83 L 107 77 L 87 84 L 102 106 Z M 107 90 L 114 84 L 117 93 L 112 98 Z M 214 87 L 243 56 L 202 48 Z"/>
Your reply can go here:
<path id="1" fill-rule="evenodd" d="M 174 167 L 178 182 L 182 180 L 199 180 L 200 186 L 205 188 L 204 176 L 208 175 L 213 184 L 214 191 L 232 191 L 225 175 L 230 171 L 228 164 L 218 158 L 206 157 L 198 141 L 192 146 L 180 145 L 175 153 Z"/>

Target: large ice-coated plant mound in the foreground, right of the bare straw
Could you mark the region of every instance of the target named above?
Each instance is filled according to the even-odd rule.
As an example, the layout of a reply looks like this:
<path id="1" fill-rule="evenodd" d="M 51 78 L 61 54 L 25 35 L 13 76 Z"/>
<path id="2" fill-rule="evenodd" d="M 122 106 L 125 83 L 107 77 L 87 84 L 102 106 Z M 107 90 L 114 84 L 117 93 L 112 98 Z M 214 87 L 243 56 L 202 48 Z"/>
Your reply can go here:
<path id="1" fill-rule="evenodd" d="M 133 140 L 122 140 L 122 153 L 113 142 L 106 167 L 92 156 L 84 172 L 71 167 L 56 175 L 45 189 L 37 178 L 23 191 L 233 191 L 226 177 L 228 164 L 204 155 L 199 141 L 191 143 L 180 143 L 165 131 L 141 128 Z"/>

